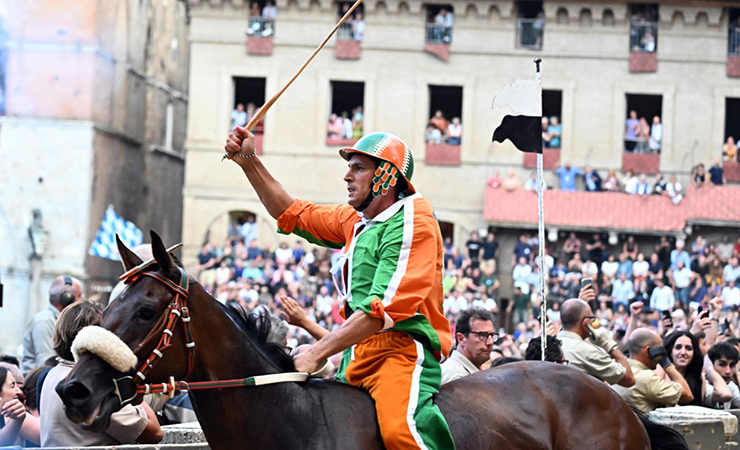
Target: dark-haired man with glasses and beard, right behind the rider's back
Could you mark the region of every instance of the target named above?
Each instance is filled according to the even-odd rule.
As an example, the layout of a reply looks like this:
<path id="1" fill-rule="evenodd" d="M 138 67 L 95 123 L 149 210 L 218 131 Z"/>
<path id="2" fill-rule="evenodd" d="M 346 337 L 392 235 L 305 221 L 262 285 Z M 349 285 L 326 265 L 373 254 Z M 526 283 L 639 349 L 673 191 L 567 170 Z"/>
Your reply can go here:
<path id="1" fill-rule="evenodd" d="M 457 348 L 442 363 L 442 384 L 457 380 L 480 368 L 491 357 L 498 334 L 493 331 L 493 314 L 483 308 L 468 308 L 455 325 Z"/>

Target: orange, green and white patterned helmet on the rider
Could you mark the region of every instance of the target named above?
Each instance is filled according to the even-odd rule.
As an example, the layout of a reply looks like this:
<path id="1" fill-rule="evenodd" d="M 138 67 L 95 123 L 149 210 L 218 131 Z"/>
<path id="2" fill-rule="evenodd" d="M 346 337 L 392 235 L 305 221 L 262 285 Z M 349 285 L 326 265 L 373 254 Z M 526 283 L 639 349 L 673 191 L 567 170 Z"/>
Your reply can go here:
<path id="1" fill-rule="evenodd" d="M 407 193 L 415 193 L 416 189 L 411 184 L 411 176 L 414 174 L 414 157 L 411 149 L 396 135 L 391 133 L 376 132 L 365 135 L 352 147 L 339 150 L 339 154 L 345 160 L 354 153 L 360 153 L 381 161 L 375 169 L 373 177 L 372 195 L 385 195 L 391 186 L 395 186 L 398 176 L 402 176 L 409 188 Z"/>

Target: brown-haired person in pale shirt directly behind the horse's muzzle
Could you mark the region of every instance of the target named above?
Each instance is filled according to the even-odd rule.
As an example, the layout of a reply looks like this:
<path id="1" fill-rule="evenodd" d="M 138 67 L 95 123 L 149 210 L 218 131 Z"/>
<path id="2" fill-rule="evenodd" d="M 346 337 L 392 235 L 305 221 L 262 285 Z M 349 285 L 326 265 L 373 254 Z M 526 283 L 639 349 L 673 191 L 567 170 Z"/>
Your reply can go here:
<path id="1" fill-rule="evenodd" d="M 113 413 L 110 425 L 102 433 L 84 429 L 67 419 L 55 388 L 74 368 L 71 349 L 77 333 L 86 326 L 99 326 L 102 321 L 102 309 L 90 302 L 77 303 L 59 317 L 54 329 L 54 350 L 60 362 L 47 374 L 40 393 L 42 447 L 157 443 L 162 440 L 157 417 L 146 403 L 126 405 Z"/>

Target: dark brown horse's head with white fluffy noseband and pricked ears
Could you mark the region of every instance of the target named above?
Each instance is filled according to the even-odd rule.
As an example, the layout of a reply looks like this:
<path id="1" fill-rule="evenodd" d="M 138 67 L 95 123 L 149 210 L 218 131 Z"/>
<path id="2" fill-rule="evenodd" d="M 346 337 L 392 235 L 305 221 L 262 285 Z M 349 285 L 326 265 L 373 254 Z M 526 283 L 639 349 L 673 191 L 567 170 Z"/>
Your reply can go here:
<path id="1" fill-rule="evenodd" d="M 97 330 L 100 335 L 108 334 L 113 342 L 109 346 L 101 345 L 96 336 L 88 338 L 95 343 L 78 342 L 84 340 L 83 332 L 80 332 L 75 340 L 75 345 L 80 348 L 75 367 L 56 388 L 67 417 L 73 422 L 85 423 L 94 431 L 105 430 L 110 424 L 111 414 L 124 404 L 141 402 L 142 396 L 136 394 L 136 383 L 162 382 L 170 376 L 184 379 L 188 375 L 189 350 L 184 343 L 190 339 L 186 339 L 178 318 L 170 320 L 172 314 L 181 314 L 181 311 L 171 313 L 173 308 L 170 304 L 178 293 L 172 286 L 178 287 L 181 278 L 187 276 L 167 253 L 160 237 L 154 232 L 151 236 L 156 266 L 135 274 L 134 281 L 105 309 L 103 328 L 113 335 Z M 125 271 L 142 264 L 141 258 L 120 240 L 117 242 Z M 161 342 L 165 336 L 163 330 L 168 326 L 173 333 L 170 336 L 171 348 Z M 155 348 L 165 357 L 146 367 L 147 362 L 152 362 L 150 355 L 154 357 L 152 351 Z M 131 350 L 136 355 L 135 368 L 116 363 L 121 357 L 133 360 Z M 146 381 L 137 375 L 141 372 L 146 374 Z"/>

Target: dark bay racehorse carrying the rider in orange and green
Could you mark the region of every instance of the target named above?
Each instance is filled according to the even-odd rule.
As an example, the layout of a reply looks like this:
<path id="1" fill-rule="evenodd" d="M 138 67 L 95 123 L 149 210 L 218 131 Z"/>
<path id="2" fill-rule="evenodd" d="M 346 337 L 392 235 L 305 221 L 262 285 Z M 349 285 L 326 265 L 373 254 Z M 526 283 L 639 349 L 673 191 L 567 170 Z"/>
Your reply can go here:
<path id="1" fill-rule="evenodd" d="M 186 380 L 180 386 L 188 386 L 295 371 L 284 349 L 267 342 L 266 320 L 219 303 L 189 279 L 156 233 L 151 237 L 155 264 L 140 271 L 105 309 L 103 319 L 104 328 L 135 349 L 147 382 L 172 380 L 174 387 L 177 378 Z M 120 241 L 118 247 L 127 272 L 142 265 Z M 151 363 L 148 356 L 171 315 L 171 303 L 183 292 L 188 326 L 170 327 L 166 352 Z M 110 415 L 134 392 L 135 387 L 121 386 L 126 376 L 137 378 L 135 371 L 123 373 L 96 354 L 79 355 L 74 370 L 56 388 L 67 417 L 93 430 L 107 428 Z M 370 396 L 337 381 L 309 379 L 189 394 L 213 450 L 384 448 Z M 132 397 L 139 402 L 142 396 Z M 638 418 L 606 384 L 549 362 L 511 363 L 447 383 L 435 402 L 459 450 L 688 448 L 678 433 Z M 662 443 L 651 446 L 643 423 Z"/>

